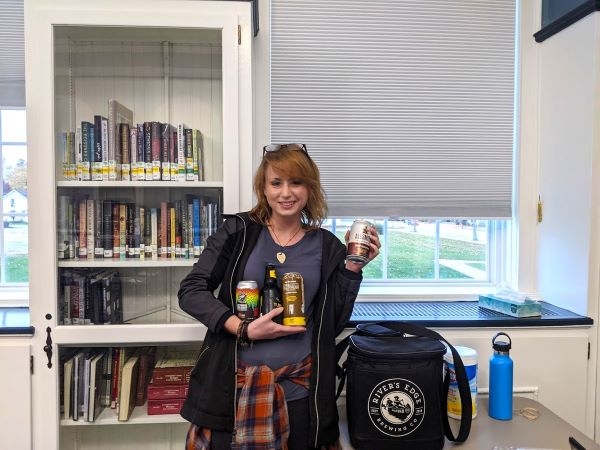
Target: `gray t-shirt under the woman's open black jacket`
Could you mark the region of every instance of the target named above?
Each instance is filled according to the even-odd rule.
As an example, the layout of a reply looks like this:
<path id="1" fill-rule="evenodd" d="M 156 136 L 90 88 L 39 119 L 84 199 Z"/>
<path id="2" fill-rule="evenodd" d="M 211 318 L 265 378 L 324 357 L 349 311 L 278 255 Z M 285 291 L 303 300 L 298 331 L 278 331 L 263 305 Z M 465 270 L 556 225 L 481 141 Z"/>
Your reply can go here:
<path id="1" fill-rule="evenodd" d="M 240 349 L 238 355 L 245 363 L 257 366 L 267 365 L 276 370 L 287 364 L 302 361 L 310 354 L 312 329 L 313 301 L 321 281 L 322 235 L 312 231 L 306 233 L 300 241 L 283 249 L 286 259 L 281 264 L 277 252 L 281 248 L 273 241 L 266 227 L 263 228 L 256 246 L 248 259 L 244 270 L 244 280 L 256 280 L 259 289 L 262 288 L 265 265 L 271 263 L 277 272 L 277 282 L 281 288 L 281 277 L 287 272 L 299 272 L 304 280 L 304 313 L 307 319 L 305 333 L 284 336 L 278 339 L 254 341 L 251 347 Z M 303 387 L 284 380 L 281 383 L 287 400 L 304 398 L 308 392 Z"/>

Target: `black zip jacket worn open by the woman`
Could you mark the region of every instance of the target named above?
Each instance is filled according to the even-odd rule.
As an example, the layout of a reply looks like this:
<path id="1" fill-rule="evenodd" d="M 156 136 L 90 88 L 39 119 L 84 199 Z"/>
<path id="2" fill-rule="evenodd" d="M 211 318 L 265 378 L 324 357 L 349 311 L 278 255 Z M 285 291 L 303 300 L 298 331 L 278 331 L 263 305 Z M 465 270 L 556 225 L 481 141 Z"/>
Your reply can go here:
<path id="1" fill-rule="evenodd" d="M 181 410 L 188 421 L 214 430 L 232 431 L 236 409 L 236 338 L 223 330 L 234 314 L 235 288 L 262 225 L 247 213 L 229 216 L 208 238 L 206 248 L 181 282 L 179 305 L 208 328 L 192 371 L 189 393 Z M 321 285 L 313 308 L 310 436 L 313 447 L 339 435 L 335 400 L 335 338 L 346 326 L 362 274 L 344 267 L 345 246 L 331 232 L 323 234 Z M 214 292 L 218 289 L 217 298 Z"/>

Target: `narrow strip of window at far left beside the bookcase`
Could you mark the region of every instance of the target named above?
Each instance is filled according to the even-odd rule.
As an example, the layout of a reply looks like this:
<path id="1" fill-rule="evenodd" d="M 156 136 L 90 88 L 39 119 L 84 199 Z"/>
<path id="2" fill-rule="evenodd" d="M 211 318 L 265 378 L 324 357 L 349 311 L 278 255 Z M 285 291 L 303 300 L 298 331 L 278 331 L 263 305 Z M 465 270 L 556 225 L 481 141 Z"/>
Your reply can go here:
<path id="1" fill-rule="evenodd" d="M 0 287 L 6 290 L 29 281 L 25 109 L 0 109 L 0 154 Z"/>

